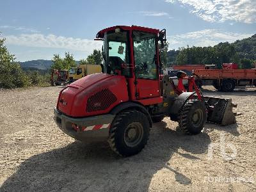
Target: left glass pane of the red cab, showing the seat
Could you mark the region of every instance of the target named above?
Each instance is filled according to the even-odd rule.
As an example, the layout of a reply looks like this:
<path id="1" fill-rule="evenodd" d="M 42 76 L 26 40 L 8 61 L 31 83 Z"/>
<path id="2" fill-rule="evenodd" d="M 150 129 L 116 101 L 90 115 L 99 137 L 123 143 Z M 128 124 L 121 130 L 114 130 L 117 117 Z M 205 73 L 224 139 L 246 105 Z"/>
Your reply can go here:
<path id="1" fill-rule="evenodd" d="M 124 63 L 129 63 L 128 31 L 109 31 L 104 34 L 104 71 L 115 74 Z"/>

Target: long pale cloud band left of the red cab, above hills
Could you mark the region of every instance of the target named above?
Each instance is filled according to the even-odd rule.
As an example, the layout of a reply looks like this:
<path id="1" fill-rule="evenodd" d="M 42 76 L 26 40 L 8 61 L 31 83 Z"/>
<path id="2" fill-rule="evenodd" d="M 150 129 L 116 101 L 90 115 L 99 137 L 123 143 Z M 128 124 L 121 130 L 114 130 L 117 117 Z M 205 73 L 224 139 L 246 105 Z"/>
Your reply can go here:
<path id="1" fill-rule="evenodd" d="M 6 44 L 8 45 L 21 45 L 26 47 L 48 47 L 92 52 L 93 49 L 100 49 L 102 46 L 101 41 L 56 36 L 52 34 L 22 34 L 19 36 L 9 35 L 4 37 L 6 38 Z"/>

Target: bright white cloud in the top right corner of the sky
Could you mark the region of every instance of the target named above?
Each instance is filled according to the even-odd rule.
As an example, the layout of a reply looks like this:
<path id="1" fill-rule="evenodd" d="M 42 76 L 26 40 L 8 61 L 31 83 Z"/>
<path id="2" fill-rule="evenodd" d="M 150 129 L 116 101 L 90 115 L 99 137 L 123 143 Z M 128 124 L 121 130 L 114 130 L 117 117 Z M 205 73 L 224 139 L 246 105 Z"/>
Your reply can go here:
<path id="1" fill-rule="evenodd" d="M 255 0 L 165 0 L 189 6 L 191 13 L 209 22 L 234 20 L 244 23 L 256 22 Z"/>

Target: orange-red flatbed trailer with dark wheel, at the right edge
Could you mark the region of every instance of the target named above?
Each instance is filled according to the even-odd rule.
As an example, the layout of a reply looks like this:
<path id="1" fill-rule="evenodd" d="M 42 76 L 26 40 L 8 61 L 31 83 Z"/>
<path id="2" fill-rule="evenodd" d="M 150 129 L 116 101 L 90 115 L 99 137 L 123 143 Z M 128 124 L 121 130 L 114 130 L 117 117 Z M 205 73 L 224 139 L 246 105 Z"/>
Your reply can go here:
<path id="1" fill-rule="evenodd" d="M 217 90 L 232 92 L 236 86 L 256 86 L 256 68 L 195 69 L 200 85 L 212 85 Z"/>

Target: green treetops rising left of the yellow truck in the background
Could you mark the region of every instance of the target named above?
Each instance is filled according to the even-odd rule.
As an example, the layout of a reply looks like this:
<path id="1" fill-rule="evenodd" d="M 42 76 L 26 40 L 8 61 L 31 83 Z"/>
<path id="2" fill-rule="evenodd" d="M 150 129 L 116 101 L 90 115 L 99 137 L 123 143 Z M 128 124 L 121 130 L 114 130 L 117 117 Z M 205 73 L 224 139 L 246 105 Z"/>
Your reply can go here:
<path id="1" fill-rule="evenodd" d="M 76 67 L 76 61 L 74 60 L 73 54 L 65 52 L 65 58 L 61 58 L 59 54 L 54 54 L 51 68 L 69 70 L 71 67 Z"/>

